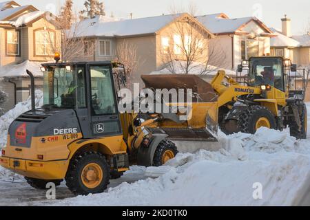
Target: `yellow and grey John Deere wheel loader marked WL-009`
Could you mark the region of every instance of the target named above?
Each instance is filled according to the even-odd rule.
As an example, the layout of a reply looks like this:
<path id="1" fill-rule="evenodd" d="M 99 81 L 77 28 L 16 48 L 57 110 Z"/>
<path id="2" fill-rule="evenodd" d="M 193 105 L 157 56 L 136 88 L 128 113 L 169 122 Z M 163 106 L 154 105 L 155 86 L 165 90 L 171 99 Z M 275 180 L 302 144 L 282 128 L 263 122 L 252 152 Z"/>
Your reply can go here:
<path id="1" fill-rule="evenodd" d="M 178 153 L 170 140 L 182 133 L 216 140 L 217 102 L 211 99 L 194 104 L 192 118 L 185 121 L 178 121 L 177 113 L 152 113 L 145 121 L 140 112 L 119 113 L 116 90 L 125 80 L 120 67 L 110 62 L 43 64 L 40 109 L 34 109 L 34 77 L 28 71 L 32 109 L 10 125 L 0 165 L 25 176 L 34 188 L 65 179 L 72 192 L 87 195 L 103 192 L 110 178 L 121 177 L 130 164 L 165 164 Z M 177 87 L 178 76 L 175 80 L 169 86 Z M 196 76 L 186 80 L 194 91 L 195 82 L 203 82 Z M 152 82 L 148 86 L 156 88 Z"/>

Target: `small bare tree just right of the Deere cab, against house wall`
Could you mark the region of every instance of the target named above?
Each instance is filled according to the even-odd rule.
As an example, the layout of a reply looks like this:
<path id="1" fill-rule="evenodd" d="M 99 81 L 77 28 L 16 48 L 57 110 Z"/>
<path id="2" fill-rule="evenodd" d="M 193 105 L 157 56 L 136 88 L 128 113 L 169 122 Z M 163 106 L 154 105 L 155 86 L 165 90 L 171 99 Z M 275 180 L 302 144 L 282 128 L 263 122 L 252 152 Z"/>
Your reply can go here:
<path id="1" fill-rule="evenodd" d="M 132 82 L 132 74 L 136 71 L 138 65 L 141 65 L 141 59 L 137 55 L 136 45 L 127 41 L 119 42 L 116 47 L 116 62 L 125 65 L 125 74 L 127 75 L 127 85 Z"/>

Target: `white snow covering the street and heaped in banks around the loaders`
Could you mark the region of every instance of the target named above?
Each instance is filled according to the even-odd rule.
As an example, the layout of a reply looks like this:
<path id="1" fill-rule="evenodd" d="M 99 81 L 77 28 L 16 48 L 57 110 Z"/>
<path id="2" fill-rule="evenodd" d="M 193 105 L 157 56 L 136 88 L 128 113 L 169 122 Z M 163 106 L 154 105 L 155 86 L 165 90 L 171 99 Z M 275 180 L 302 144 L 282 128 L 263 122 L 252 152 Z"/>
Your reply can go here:
<path id="1" fill-rule="evenodd" d="M 28 108 L 27 103 L 17 106 L 21 107 Z M 19 110 L 0 118 L 1 141 Z M 56 199 L 46 199 L 45 190 L 31 188 L 19 175 L 12 182 L 12 173 L 0 168 L 0 206 L 310 205 L 310 139 L 296 140 L 287 130 L 266 128 L 254 135 L 227 136 L 219 131 L 218 139 L 216 151 L 207 150 L 208 142 L 192 142 L 191 148 L 204 149 L 178 153 L 157 168 L 132 166 L 97 195 L 76 197 L 62 183 L 56 188 Z"/>

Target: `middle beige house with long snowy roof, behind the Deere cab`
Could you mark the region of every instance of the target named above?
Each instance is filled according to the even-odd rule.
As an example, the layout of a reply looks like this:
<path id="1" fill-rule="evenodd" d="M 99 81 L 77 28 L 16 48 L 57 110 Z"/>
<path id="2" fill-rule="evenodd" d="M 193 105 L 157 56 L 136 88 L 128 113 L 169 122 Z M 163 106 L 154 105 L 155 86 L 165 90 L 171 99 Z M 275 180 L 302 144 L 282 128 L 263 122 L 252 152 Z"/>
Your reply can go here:
<path id="1" fill-rule="evenodd" d="M 74 37 L 84 39 L 84 56 L 77 59 L 111 61 L 120 55 L 118 53 L 122 53 L 122 48 L 118 50 L 120 46 L 130 45 L 129 48 L 136 50 L 138 60 L 132 78 L 139 82 L 141 74 L 161 69 L 169 48 L 174 48 L 173 51 L 179 53 L 176 45 L 180 43 L 181 37 L 176 32 L 176 24 L 185 29 L 195 26 L 196 35 L 205 39 L 201 43 L 203 56 L 208 56 L 207 50 L 203 50 L 207 47 L 204 43 L 207 43 L 213 34 L 194 17 L 184 13 L 127 20 L 103 16 L 86 19 L 74 27 L 79 30 L 74 32 Z M 181 56 L 178 58 L 182 59 Z"/>

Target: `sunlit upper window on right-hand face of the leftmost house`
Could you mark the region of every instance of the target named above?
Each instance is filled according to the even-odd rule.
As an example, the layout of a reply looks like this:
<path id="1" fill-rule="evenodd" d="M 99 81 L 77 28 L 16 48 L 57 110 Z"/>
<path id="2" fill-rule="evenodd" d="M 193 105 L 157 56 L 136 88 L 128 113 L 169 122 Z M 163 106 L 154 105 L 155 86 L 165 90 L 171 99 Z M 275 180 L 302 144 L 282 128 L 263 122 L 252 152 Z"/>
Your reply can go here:
<path id="1" fill-rule="evenodd" d="M 34 32 L 35 55 L 47 56 L 54 54 L 55 33 L 48 30 Z"/>

